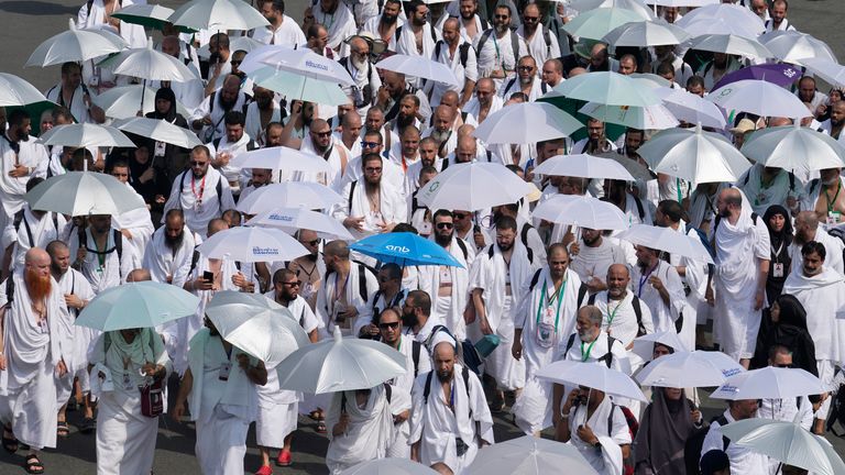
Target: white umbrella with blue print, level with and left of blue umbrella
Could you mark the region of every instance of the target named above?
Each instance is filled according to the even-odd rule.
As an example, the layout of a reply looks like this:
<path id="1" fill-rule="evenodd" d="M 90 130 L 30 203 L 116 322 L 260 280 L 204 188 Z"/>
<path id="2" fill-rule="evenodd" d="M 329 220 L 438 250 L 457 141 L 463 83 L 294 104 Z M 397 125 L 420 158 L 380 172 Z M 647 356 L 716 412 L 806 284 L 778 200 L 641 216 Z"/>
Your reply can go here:
<path id="1" fill-rule="evenodd" d="M 282 230 L 266 228 L 231 228 L 220 231 L 197 246 L 208 258 L 238 262 L 283 262 L 308 254 L 299 241 Z"/>

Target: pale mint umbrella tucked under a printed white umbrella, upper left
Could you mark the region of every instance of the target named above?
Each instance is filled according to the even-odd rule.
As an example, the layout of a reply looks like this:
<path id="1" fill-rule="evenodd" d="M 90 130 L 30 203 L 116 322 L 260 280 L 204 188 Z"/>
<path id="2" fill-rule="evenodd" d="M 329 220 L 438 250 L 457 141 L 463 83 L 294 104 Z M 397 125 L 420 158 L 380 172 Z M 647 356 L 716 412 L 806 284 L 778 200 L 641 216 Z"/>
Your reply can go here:
<path id="1" fill-rule="evenodd" d="M 325 106 L 342 106 L 349 102 L 349 98 L 337 81 L 314 79 L 276 67 L 266 66 L 250 74 L 252 80 L 273 92 L 286 96 L 288 99 L 298 99 Z"/>

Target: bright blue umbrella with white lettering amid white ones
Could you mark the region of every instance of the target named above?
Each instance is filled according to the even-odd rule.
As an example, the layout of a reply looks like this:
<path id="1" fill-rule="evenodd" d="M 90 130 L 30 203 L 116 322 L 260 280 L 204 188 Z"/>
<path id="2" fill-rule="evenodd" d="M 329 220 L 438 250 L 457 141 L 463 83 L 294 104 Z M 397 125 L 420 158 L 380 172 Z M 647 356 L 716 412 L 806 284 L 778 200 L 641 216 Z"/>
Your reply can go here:
<path id="1" fill-rule="evenodd" d="M 375 234 L 351 244 L 349 248 L 375 257 L 382 263 L 395 263 L 402 267 L 411 265 L 463 267 L 447 250 L 434 241 L 408 232 Z"/>

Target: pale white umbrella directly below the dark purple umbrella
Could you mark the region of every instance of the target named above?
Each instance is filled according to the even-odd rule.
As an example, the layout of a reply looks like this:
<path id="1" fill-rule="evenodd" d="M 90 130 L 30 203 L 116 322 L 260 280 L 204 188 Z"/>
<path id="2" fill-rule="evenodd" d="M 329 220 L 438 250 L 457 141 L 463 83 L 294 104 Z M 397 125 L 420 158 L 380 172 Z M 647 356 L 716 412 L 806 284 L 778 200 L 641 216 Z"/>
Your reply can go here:
<path id="1" fill-rule="evenodd" d="M 727 112 L 735 110 L 790 119 L 801 119 L 812 114 L 798 96 L 780 86 L 759 79 L 731 82 L 709 93 L 706 99 Z"/>

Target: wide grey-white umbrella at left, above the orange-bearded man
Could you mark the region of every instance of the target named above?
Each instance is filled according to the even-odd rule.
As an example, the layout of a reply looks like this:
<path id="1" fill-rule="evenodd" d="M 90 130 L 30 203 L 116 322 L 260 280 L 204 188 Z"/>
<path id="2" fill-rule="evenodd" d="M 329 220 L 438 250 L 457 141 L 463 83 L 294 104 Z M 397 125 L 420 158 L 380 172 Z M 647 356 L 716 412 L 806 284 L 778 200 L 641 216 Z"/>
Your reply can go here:
<path id="1" fill-rule="evenodd" d="M 31 189 L 24 199 L 31 209 L 72 217 L 117 216 L 146 206 L 128 185 L 111 175 L 94 172 L 68 172 L 50 177 Z"/>

